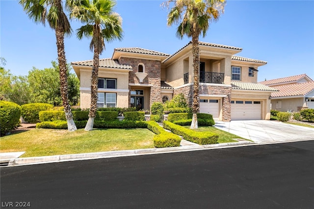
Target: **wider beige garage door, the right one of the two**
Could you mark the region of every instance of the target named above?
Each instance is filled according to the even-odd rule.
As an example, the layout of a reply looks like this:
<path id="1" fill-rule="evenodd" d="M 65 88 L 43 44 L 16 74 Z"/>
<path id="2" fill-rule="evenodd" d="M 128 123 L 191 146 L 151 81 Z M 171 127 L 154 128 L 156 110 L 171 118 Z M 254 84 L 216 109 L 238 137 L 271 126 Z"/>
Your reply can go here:
<path id="1" fill-rule="evenodd" d="M 231 120 L 261 120 L 260 101 L 231 101 Z"/>

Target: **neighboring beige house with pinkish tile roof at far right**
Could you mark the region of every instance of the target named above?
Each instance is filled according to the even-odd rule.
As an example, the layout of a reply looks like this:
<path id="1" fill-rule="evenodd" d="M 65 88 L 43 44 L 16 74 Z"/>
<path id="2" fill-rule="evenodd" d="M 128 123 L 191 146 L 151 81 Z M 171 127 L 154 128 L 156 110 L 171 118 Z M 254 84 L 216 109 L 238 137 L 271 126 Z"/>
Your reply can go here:
<path id="1" fill-rule="evenodd" d="M 314 81 L 306 74 L 260 83 L 279 90 L 271 93 L 272 109 L 297 112 L 304 108 L 314 108 Z"/>

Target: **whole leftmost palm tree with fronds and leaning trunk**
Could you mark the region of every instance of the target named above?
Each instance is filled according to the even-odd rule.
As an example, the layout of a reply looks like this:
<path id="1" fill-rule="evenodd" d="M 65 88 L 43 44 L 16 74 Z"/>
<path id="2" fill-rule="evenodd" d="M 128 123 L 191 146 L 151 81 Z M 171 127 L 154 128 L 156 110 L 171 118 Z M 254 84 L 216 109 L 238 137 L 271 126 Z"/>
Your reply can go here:
<path id="1" fill-rule="evenodd" d="M 60 69 L 60 91 L 65 117 L 69 131 L 76 131 L 77 127 L 73 120 L 71 105 L 68 100 L 68 72 L 64 51 L 64 35 L 71 34 L 70 22 L 63 11 L 61 0 L 20 0 L 23 10 L 28 17 L 36 24 L 41 23 L 45 26 L 46 21 L 55 31 L 58 63 Z"/>

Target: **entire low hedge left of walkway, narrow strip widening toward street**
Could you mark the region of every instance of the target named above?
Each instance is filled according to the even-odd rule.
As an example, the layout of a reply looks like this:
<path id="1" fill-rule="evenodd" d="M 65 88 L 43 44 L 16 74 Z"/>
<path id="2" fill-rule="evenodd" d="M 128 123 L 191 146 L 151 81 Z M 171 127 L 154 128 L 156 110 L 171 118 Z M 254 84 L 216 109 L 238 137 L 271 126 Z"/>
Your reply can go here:
<path id="1" fill-rule="evenodd" d="M 181 143 L 181 137 L 165 131 L 154 121 L 147 121 L 147 129 L 153 131 L 157 135 L 154 136 L 154 146 L 156 148 L 162 147 L 179 147 Z"/>

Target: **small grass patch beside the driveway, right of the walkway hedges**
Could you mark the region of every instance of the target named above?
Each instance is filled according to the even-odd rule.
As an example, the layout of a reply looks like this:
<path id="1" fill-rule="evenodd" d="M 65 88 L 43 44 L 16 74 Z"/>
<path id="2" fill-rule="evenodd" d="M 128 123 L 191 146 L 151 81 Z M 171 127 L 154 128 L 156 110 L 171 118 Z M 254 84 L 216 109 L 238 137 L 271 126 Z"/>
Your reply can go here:
<path id="1" fill-rule="evenodd" d="M 190 128 L 190 126 L 184 126 L 185 128 Z M 229 143 L 229 142 L 237 142 L 236 140 L 234 140 L 235 138 L 237 139 L 244 139 L 240 136 L 237 136 L 235 134 L 226 132 L 226 131 L 222 131 L 220 129 L 217 129 L 215 127 L 212 126 L 199 126 L 198 129 L 196 129 L 195 131 L 210 131 L 213 133 L 216 133 L 219 135 L 218 138 L 218 143 Z M 247 139 L 246 139 L 247 140 Z"/>

